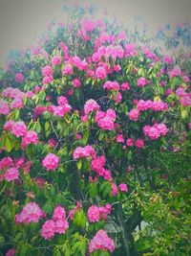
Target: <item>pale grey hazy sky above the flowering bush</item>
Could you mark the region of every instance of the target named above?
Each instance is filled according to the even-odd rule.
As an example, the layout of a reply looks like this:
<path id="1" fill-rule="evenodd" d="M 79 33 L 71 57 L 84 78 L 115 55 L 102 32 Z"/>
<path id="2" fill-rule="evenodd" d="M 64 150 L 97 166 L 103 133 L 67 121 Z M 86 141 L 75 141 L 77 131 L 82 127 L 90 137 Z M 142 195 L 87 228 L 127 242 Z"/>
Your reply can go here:
<path id="1" fill-rule="evenodd" d="M 0 64 L 6 61 L 11 50 L 37 44 L 37 38 L 54 21 L 65 21 L 63 6 L 79 1 L 67 0 L 0 0 Z M 86 0 L 80 1 L 86 5 Z M 156 32 L 160 26 L 172 22 L 191 23 L 191 0 L 93 0 L 98 16 L 117 18 L 119 24 L 132 28 L 135 17 Z"/>

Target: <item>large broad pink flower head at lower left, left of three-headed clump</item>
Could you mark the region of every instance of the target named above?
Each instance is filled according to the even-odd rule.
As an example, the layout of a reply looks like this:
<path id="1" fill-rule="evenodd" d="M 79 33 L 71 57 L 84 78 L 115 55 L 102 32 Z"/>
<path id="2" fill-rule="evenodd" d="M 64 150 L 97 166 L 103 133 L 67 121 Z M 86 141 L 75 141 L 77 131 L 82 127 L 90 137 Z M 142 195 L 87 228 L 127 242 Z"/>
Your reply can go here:
<path id="1" fill-rule="evenodd" d="M 15 215 L 16 223 L 38 222 L 46 215 L 35 202 L 27 203 L 20 214 Z"/>

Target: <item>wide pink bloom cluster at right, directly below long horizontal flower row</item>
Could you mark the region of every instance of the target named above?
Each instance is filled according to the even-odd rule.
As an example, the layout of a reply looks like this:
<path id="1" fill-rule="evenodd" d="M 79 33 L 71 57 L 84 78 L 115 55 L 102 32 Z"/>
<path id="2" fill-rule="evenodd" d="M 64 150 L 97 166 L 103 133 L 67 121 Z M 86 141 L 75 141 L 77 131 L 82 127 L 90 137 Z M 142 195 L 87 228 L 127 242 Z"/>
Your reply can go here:
<path id="1" fill-rule="evenodd" d="M 167 128 L 164 124 L 155 124 L 153 127 L 145 126 L 143 128 L 143 132 L 151 140 L 157 140 L 160 135 L 166 135 Z"/>

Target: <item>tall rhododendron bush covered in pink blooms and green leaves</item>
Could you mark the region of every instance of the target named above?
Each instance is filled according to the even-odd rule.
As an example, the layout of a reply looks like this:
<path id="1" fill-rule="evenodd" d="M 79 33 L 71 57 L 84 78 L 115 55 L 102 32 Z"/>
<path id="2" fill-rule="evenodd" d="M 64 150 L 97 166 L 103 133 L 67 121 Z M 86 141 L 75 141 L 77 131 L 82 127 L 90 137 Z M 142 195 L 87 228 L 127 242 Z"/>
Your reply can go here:
<path id="1" fill-rule="evenodd" d="M 188 255 L 190 74 L 86 14 L 1 72 L 0 250 Z"/>

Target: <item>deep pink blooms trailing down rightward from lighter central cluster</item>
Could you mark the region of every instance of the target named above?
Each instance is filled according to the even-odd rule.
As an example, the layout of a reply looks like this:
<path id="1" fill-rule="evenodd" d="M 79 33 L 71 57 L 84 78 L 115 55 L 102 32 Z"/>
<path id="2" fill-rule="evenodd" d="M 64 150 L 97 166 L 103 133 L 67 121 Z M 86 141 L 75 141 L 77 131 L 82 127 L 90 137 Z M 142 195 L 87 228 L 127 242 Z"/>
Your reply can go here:
<path id="1" fill-rule="evenodd" d="M 92 171 L 96 172 L 97 176 L 102 176 L 106 180 L 111 180 L 111 172 L 104 168 L 105 166 L 105 157 L 103 155 L 97 156 L 91 162 Z"/>

